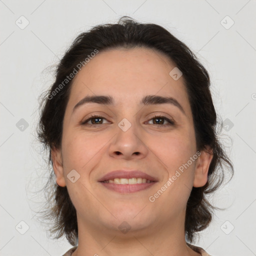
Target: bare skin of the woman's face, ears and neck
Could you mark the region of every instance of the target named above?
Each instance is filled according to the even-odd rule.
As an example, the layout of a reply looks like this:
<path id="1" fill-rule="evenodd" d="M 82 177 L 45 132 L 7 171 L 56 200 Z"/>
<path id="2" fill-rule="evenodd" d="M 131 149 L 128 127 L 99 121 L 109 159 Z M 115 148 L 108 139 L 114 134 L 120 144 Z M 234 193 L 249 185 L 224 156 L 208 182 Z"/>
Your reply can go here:
<path id="1" fill-rule="evenodd" d="M 185 208 L 192 186 L 206 183 L 212 154 L 200 150 L 154 202 L 148 199 L 197 151 L 183 77 L 169 75 L 174 67 L 155 50 L 119 48 L 99 52 L 75 76 L 61 148 L 52 149 L 56 182 L 67 186 L 77 213 L 79 242 L 72 256 L 199 255 L 185 242 Z M 86 95 L 110 95 L 115 102 L 86 103 L 73 111 Z M 146 95 L 173 97 L 184 113 L 169 103 L 141 105 Z M 89 124 L 95 119 L 80 124 L 91 114 L 104 119 L 94 126 Z M 159 124 L 154 115 L 174 125 Z M 117 125 L 123 118 L 131 123 L 127 131 Z M 80 175 L 74 183 L 67 178 L 72 169 Z M 97 180 L 116 169 L 141 170 L 158 182 L 134 193 L 111 191 Z M 130 226 L 126 233 L 118 228 L 123 221 Z"/>

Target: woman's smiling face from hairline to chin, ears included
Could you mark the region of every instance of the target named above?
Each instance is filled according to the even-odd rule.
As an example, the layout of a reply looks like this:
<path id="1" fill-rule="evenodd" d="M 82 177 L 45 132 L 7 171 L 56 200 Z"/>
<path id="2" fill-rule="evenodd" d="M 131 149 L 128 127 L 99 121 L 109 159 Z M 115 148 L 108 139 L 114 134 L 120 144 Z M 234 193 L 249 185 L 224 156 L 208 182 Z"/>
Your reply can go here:
<path id="1" fill-rule="evenodd" d="M 197 151 L 183 77 L 169 75 L 174 67 L 152 49 L 111 49 L 75 76 L 52 160 L 78 226 L 148 231 L 184 221 L 211 157 Z"/>

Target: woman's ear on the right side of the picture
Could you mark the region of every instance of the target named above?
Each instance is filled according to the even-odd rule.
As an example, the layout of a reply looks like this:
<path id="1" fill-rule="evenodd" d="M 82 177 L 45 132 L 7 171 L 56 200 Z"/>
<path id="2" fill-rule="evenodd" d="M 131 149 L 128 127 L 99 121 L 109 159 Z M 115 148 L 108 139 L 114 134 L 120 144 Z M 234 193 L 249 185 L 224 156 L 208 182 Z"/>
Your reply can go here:
<path id="1" fill-rule="evenodd" d="M 212 148 L 205 146 L 203 150 L 200 151 L 200 155 L 196 161 L 196 167 L 194 172 L 194 187 L 204 186 L 207 182 L 207 175 L 210 166 L 210 162 L 213 157 Z"/>

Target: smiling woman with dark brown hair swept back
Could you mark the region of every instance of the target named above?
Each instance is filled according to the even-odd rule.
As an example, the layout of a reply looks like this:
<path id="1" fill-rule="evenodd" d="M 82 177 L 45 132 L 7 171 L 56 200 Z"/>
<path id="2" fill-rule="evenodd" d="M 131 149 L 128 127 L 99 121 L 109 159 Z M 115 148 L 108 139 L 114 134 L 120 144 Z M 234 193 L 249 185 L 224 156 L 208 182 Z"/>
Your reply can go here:
<path id="1" fill-rule="evenodd" d="M 209 85 L 159 25 L 123 17 L 78 35 L 38 125 L 52 167 L 43 217 L 73 245 L 64 255 L 208 255 L 191 244 L 212 218 L 205 194 L 233 172 Z"/>

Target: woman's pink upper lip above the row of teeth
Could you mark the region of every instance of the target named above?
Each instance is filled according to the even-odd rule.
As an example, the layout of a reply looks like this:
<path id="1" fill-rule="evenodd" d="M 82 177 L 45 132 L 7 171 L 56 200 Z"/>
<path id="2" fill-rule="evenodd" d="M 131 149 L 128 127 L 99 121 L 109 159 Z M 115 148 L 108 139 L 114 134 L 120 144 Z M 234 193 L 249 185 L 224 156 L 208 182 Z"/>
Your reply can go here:
<path id="1" fill-rule="evenodd" d="M 157 181 L 155 177 L 152 177 L 140 170 L 114 170 L 111 172 L 108 172 L 104 176 L 102 176 L 98 181 L 105 181 L 108 179 L 114 179 L 114 178 L 146 178 L 152 181 Z"/>

